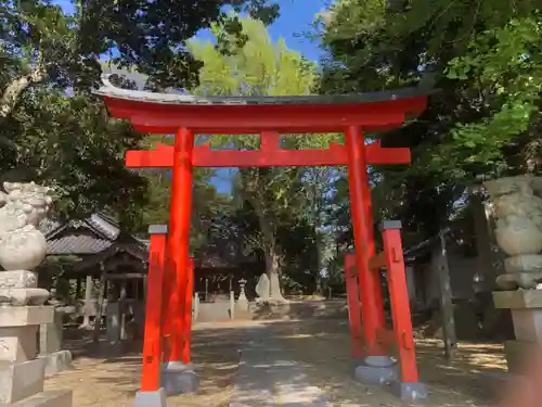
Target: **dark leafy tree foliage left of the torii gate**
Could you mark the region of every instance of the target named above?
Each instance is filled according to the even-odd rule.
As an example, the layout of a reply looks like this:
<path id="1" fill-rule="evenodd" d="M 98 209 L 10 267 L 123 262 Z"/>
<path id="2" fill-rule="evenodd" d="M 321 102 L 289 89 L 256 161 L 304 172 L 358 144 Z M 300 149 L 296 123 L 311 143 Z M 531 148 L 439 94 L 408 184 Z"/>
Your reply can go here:
<path id="1" fill-rule="evenodd" d="M 54 186 L 60 216 L 107 211 L 142 230 L 143 222 L 166 217 L 167 193 L 152 182 L 147 191 L 147 179 L 124 167 L 125 151 L 139 148 L 143 135 L 107 118 L 89 94 L 99 82 L 100 55 L 116 49 L 112 63 L 146 73 L 150 88 L 183 87 L 194 84 L 199 67 L 185 41 L 212 21 L 229 35 L 240 30 L 222 7 L 267 22 L 279 9 L 264 0 L 74 5 L 76 12 L 67 14 L 50 1 L 0 0 L 0 173 L 9 171 L 1 178 L 16 169 L 18 178 Z M 207 185 L 209 174 L 198 182 Z M 209 188 L 198 190 L 212 195 Z M 149 207 L 152 214 L 143 215 Z"/>

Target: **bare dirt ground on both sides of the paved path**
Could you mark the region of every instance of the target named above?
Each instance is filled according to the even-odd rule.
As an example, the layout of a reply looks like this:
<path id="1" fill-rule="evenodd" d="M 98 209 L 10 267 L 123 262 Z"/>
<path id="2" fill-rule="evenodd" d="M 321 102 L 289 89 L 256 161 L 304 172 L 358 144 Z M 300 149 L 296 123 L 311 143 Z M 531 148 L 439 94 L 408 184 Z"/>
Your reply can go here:
<path id="1" fill-rule="evenodd" d="M 193 331 L 193 363 L 201 377 L 196 395 L 168 398 L 170 407 L 224 407 L 233 391 L 238 366 L 238 349 L 247 327 L 270 325 L 271 332 L 292 359 L 304 365 L 312 385 L 332 397 L 334 406 L 404 406 L 377 386 L 367 386 L 352 378 L 348 326 L 343 320 L 282 322 L 237 322 L 199 325 Z M 462 344 L 452 363 L 443 358 L 438 341 L 417 341 L 422 380 L 430 396 L 429 407 L 486 407 L 491 404 L 494 381 L 505 361 L 496 344 Z M 102 348 L 92 353 L 81 342 L 72 343 L 77 356 L 75 370 L 47 380 L 48 389 L 70 389 L 74 407 L 128 407 L 133 405 L 141 371 L 141 354 L 134 349 L 116 352 Z M 139 347 L 134 345 L 134 347 Z M 108 353 L 104 357 L 104 352 Z M 494 393 L 494 391 L 493 391 Z"/>

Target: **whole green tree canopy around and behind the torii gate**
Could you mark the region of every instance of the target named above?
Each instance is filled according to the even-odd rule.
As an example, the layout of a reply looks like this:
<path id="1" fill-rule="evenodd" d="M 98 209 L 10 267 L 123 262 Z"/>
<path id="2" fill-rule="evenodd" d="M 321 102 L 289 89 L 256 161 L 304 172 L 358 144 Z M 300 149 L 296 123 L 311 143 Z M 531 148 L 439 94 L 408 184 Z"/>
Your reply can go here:
<path id="1" fill-rule="evenodd" d="M 167 173 L 125 168 L 149 136 L 112 119 L 91 94 L 104 60 L 144 84 L 196 94 L 346 93 L 418 86 L 439 91 L 383 145 L 409 147 L 410 166 L 370 168 L 375 218 L 399 217 L 405 244 L 435 234 L 481 180 L 540 173 L 542 16 L 532 0 L 336 0 L 315 22 L 320 65 L 274 42 L 273 0 L 0 0 L 0 179 L 55 187 L 56 216 L 107 211 L 133 231 L 166 221 Z M 259 18 L 259 20 L 258 20 Z M 214 41 L 193 39 L 210 28 Z M 288 149 L 325 148 L 340 135 L 284 135 Z M 212 136 L 214 148 L 257 149 L 259 137 Z M 268 272 L 317 289 L 351 247 L 344 168 L 243 168 L 233 194 L 196 171 L 193 247 L 235 240 Z M 220 227 L 211 227 L 211 224 Z M 218 229 L 229 232 L 221 234 Z M 220 239 L 212 240 L 220 234 Z M 221 243 L 220 243 L 221 242 Z"/>

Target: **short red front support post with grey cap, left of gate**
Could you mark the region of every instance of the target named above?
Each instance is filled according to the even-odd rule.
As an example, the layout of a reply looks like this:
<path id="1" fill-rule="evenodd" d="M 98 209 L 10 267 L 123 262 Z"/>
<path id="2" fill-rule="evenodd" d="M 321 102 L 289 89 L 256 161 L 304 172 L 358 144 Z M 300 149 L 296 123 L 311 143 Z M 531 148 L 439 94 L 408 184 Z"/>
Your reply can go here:
<path id="1" fill-rule="evenodd" d="M 162 225 L 152 225 L 151 249 L 149 254 L 149 277 L 145 305 L 145 333 L 143 342 L 143 369 L 141 391 L 155 392 L 160 386 L 162 364 L 162 293 L 164 288 L 164 268 L 167 229 Z"/>

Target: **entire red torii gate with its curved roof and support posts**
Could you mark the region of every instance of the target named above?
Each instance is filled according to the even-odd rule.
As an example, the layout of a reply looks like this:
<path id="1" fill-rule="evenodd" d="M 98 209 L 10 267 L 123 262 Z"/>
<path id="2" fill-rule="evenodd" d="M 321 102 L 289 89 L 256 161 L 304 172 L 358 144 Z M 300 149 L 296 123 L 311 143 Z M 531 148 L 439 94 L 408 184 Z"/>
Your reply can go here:
<path id="1" fill-rule="evenodd" d="M 378 142 L 366 145 L 362 128 L 365 131 L 382 131 L 401 126 L 406 115 L 416 116 L 423 112 L 427 102 L 426 92 L 401 89 L 333 97 L 198 98 L 125 90 L 111 86 L 108 81 L 105 84 L 96 94 L 104 98 L 111 115 L 129 119 L 134 129 L 143 132 L 176 135 L 173 145 L 158 144 L 154 151 L 128 151 L 126 155 L 128 167 L 172 168 L 169 231 L 155 230 L 151 237 L 142 389 L 138 393 L 137 405 L 165 405 L 160 389 L 165 336 L 168 343 L 165 361 L 176 367 L 186 366 L 190 361 L 192 288 L 189 233 L 194 167 L 346 165 L 356 241 L 354 259 L 347 262 L 353 356 L 379 360 L 387 355 L 383 345 L 395 344 L 400 348 L 401 356 L 402 377 L 398 381 L 398 394 L 404 398 L 424 395 L 417 382 L 400 236 L 397 230 L 392 238 L 386 239 L 385 233 L 386 250 L 376 255 L 366 171 L 367 165 L 408 164 L 410 150 L 382 148 Z M 332 143 L 325 150 L 281 148 L 281 133 L 307 132 L 344 132 L 345 144 Z M 261 145 L 259 151 L 211 150 L 209 145 L 194 147 L 196 133 L 260 133 Z M 353 265 L 358 266 L 357 272 L 351 270 Z M 402 274 L 393 282 L 390 280 L 393 317 L 400 319 L 393 321 L 396 329 L 392 335 L 386 334 L 379 276 L 374 271 L 385 265 L 388 272 L 392 269 Z M 397 309 L 402 311 L 396 313 Z M 362 374 L 362 379 L 382 382 L 384 379 L 378 369 L 388 367 L 378 363 L 369 365 L 365 368 L 375 369 L 376 376 L 371 370 L 369 377 L 373 374 L 374 379 L 366 379 L 366 374 Z M 185 370 L 181 368 L 178 372 Z M 175 383 L 172 387 L 176 387 Z M 182 389 L 171 390 L 180 391 Z"/>

